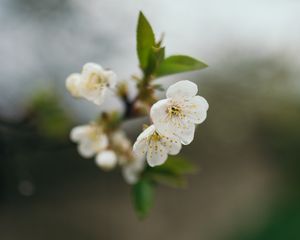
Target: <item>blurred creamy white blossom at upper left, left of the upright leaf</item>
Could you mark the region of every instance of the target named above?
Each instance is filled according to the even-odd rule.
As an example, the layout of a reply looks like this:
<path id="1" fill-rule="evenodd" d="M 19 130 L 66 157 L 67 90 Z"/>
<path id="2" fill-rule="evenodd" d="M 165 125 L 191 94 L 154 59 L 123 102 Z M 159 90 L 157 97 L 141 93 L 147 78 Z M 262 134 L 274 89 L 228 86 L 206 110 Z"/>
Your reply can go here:
<path id="1" fill-rule="evenodd" d="M 116 74 L 96 63 L 86 63 L 81 74 L 71 74 L 66 80 L 68 91 L 75 97 L 85 98 L 100 105 L 108 88 L 116 85 Z"/>

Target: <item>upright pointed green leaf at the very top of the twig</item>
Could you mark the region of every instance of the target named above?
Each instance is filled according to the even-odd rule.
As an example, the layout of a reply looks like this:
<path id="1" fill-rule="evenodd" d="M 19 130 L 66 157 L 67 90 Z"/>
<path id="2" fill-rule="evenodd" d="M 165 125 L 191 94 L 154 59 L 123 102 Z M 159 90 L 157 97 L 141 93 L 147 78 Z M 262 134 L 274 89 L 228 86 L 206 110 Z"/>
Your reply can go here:
<path id="1" fill-rule="evenodd" d="M 150 23 L 142 12 L 139 14 L 136 40 L 140 67 L 143 71 L 145 71 L 148 67 L 151 49 L 155 46 L 155 37 Z"/>

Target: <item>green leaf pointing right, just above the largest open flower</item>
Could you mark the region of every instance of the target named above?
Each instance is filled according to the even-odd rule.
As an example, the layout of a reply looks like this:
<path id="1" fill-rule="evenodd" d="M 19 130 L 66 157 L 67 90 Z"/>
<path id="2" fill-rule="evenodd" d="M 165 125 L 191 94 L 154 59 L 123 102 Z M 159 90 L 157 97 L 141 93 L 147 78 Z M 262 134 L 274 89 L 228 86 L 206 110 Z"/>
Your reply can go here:
<path id="1" fill-rule="evenodd" d="M 156 76 L 162 77 L 175 73 L 200 70 L 206 67 L 207 65 L 204 62 L 195 58 L 184 55 L 174 55 L 167 57 L 161 62 L 156 71 Z"/>

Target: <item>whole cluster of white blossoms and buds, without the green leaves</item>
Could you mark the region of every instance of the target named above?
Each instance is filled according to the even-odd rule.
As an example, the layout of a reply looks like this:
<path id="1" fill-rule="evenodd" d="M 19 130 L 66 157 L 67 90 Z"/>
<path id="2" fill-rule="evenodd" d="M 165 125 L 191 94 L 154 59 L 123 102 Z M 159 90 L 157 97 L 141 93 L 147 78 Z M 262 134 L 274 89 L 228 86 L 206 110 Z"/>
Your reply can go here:
<path id="1" fill-rule="evenodd" d="M 101 105 L 106 92 L 116 86 L 116 74 L 95 63 L 85 64 L 80 74 L 71 74 L 66 80 L 72 96 L 96 105 Z M 193 141 L 195 127 L 205 120 L 208 110 L 207 101 L 197 92 L 197 85 L 188 80 L 171 85 L 166 98 L 150 107 L 152 125 L 144 129 L 133 146 L 120 127 L 107 127 L 107 120 L 77 126 L 70 138 L 78 143 L 82 157 L 95 157 L 96 164 L 104 170 L 120 166 L 125 180 L 135 183 L 147 164 L 161 165 L 168 155 L 178 154 L 182 145 Z"/>

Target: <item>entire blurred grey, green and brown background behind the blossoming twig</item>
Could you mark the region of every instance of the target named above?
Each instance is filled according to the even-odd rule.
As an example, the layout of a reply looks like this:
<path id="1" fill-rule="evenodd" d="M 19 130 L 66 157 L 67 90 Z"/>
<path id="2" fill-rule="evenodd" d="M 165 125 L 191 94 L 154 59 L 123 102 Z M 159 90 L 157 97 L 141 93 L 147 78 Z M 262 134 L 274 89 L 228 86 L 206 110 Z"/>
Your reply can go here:
<path id="1" fill-rule="evenodd" d="M 139 10 L 167 55 L 209 64 L 159 82 L 190 79 L 210 104 L 183 149 L 201 171 L 159 187 L 144 221 L 120 173 L 69 141 L 100 110 L 64 87 L 89 61 L 139 73 Z M 299 20 L 296 0 L 1 0 L 0 239 L 300 239 Z"/>

